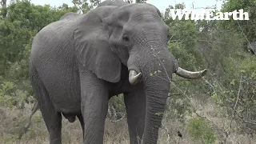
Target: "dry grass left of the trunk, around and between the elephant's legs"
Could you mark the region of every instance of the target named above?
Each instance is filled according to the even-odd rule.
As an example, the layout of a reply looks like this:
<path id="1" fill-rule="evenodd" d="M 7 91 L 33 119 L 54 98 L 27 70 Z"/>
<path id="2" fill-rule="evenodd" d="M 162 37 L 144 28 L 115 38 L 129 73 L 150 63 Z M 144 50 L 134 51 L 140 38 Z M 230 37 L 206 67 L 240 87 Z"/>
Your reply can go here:
<path id="1" fill-rule="evenodd" d="M 25 110 L 10 110 L 0 107 L 0 144 L 26 143 L 48 144 L 48 132 L 42 115 L 38 110 L 32 118 L 32 126 L 27 133 L 18 139 L 19 128 L 26 123 L 30 115 L 31 106 Z M 106 144 L 129 144 L 129 135 L 126 120 L 109 122 L 106 120 L 104 143 Z M 63 144 L 82 143 L 82 128 L 78 119 L 74 123 L 68 122 L 62 117 L 62 142 Z"/>

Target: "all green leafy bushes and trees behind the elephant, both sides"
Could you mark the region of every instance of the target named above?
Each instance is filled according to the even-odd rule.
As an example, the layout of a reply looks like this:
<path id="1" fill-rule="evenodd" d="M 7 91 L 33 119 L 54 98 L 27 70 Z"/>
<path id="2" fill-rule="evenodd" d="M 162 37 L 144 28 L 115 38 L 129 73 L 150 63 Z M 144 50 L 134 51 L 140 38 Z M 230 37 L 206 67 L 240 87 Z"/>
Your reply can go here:
<path id="1" fill-rule="evenodd" d="M 70 0 L 71 1 L 71 0 Z M 4 0 L 1 1 L 2 3 Z M 0 8 L 0 105 L 22 109 L 26 102 L 34 102 L 28 64 L 30 46 L 34 35 L 50 22 L 57 21 L 68 12 L 82 10 L 86 13 L 98 5 L 99 0 L 73 0 L 74 6 L 62 4 L 35 6 L 29 0 L 15 0 L 10 6 Z M 130 1 L 130 3 L 146 2 Z M 191 21 L 173 20 L 170 9 L 184 9 L 177 4 L 169 6 L 162 19 L 170 27 L 170 52 L 179 66 L 186 70 L 207 68 L 205 78 L 187 81 L 174 76 L 168 100 L 166 118 L 178 119 L 187 124 L 194 142 L 213 143 L 217 136 L 205 119 L 190 118 L 194 113 L 189 98 L 212 100 L 223 115 L 237 122 L 239 132 L 251 134 L 256 131 L 256 58 L 245 49 L 255 42 L 254 0 L 226 0 L 222 11 L 244 9 L 250 21 Z M 152 72 L 152 75 L 159 71 Z M 126 113 L 123 96 L 110 100 L 110 116 L 120 117 Z M 112 114 L 112 115 L 111 115 Z M 188 122 L 188 123 L 186 123 Z M 232 130 L 230 126 L 228 130 Z"/>

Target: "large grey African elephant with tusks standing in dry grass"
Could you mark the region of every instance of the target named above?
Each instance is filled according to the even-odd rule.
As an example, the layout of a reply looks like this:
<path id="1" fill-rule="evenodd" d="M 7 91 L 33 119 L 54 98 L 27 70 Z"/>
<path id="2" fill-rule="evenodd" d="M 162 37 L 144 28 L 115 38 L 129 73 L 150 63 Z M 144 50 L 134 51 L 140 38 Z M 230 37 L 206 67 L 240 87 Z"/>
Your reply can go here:
<path id="1" fill-rule="evenodd" d="M 84 143 L 102 143 L 108 100 L 117 94 L 124 94 L 130 143 L 157 143 L 172 74 L 206 74 L 178 67 L 155 6 L 106 5 L 66 14 L 32 42 L 30 81 L 52 144 L 62 143 L 62 114 L 78 117 Z"/>

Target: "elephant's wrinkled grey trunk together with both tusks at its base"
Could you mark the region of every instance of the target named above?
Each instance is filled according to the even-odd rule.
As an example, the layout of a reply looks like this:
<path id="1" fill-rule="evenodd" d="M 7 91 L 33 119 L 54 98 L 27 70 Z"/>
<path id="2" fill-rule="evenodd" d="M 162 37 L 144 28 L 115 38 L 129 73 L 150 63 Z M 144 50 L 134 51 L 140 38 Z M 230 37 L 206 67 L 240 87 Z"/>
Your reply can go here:
<path id="1" fill-rule="evenodd" d="M 154 37 L 150 37 L 152 35 Z M 162 125 L 162 117 L 166 108 L 166 100 L 170 95 L 172 74 L 176 73 L 183 78 L 201 78 L 206 74 L 206 70 L 190 72 L 178 67 L 173 54 L 160 39 L 161 36 L 158 34 L 150 36 L 145 36 L 151 40 L 147 44 L 134 46 L 139 51 L 130 52 L 127 66 L 130 70 L 130 84 L 136 84 L 141 78 L 146 93 L 146 118 L 142 143 L 156 144 L 158 130 Z"/>

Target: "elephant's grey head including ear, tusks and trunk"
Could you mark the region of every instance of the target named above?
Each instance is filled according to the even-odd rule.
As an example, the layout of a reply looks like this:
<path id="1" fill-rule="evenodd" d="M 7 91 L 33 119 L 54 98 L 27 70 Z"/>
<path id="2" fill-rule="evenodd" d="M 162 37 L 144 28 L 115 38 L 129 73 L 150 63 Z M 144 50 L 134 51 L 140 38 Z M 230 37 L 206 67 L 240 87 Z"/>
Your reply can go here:
<path id="1" fill-rule="evenodd" d="M 120 80 L 122 65 L 130 71 L 130 84 L 143 82 L 146 120 L 143 143 L 156 143 L 170 79 L 201 78 L 206 70 L 190 72 L 178 67 L 167 47 L 169 27 L 150 4 L 100 6 L 79 18 L 74 49 L 79 62 L 108 82 Z"/>

